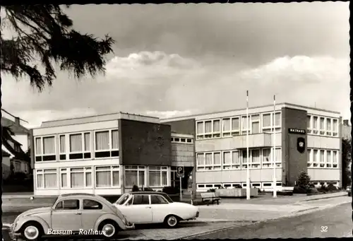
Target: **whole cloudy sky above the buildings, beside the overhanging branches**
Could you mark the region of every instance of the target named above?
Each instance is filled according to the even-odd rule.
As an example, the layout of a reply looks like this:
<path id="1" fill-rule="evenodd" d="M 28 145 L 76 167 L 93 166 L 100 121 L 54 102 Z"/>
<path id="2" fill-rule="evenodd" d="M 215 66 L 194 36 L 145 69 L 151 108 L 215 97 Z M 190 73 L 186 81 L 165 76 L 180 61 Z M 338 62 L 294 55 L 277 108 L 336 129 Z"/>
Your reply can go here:
<path id="1" fill-rule="evenodd" d="M 349 3 L 71 6 L 74 27 L 111 35 L 107 73 L 58 73 L 38 93 L 3 76 L 3 107 L 44 120 L 109 112 L 167 117 L 292 102 L 349 112 Z"/>

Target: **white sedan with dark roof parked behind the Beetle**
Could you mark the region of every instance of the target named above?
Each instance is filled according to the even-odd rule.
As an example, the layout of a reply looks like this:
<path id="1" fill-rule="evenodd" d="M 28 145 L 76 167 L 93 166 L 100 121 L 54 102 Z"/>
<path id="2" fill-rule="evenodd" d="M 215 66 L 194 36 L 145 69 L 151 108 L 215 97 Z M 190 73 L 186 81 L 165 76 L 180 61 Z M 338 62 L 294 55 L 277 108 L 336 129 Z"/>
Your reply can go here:
<path id="1" fill-rule="evenodd" d="M 198 207 L 174 202 L 162 192 L 130 192 L 122 195 L 114 205 L 134 224 L 164 223 L 174 228 L 179 221 L 198 217 Z"/>

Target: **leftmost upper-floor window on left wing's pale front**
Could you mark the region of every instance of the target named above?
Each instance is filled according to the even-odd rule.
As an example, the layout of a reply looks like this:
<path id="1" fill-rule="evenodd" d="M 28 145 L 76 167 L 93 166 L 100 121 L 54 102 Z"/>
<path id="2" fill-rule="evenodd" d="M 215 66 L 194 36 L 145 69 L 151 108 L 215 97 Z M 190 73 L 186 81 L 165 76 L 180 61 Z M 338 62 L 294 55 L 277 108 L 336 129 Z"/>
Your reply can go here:
<path id="1" fill-rule="evenodd" d="M 35 161 L 56 160 L 55 136 L 35 138 Z"/>

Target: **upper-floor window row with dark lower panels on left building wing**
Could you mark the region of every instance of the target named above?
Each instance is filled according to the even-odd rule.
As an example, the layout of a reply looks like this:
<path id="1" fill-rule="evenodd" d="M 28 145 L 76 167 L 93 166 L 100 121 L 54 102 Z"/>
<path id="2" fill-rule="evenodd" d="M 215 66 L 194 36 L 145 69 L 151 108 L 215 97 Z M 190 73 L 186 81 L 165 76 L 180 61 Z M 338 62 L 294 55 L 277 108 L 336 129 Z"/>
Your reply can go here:
<path id="1" fill-rule="evenodd" d="M 56 146 L 59 148 L 60 160 L 90 159 L 92 153 L 95 158 L 115 157 L 119 156 L 119 132 L 113 129 L 61 134 L 59 140 L 55 136 L 36 137 L 35 160 L 56 160 Z"/>

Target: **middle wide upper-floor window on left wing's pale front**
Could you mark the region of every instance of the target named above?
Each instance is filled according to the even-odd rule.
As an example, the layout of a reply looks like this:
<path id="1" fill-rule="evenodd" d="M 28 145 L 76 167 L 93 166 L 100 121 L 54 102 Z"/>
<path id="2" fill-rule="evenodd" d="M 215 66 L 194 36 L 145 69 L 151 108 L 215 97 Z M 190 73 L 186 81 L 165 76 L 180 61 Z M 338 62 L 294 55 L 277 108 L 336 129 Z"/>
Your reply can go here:
<path id="1" fill-rule="evenodd" d="M 69 134 L 69 154 L 68 159 L 86 159 L 91 158 L 90 153 L 90 132 Z"/>

